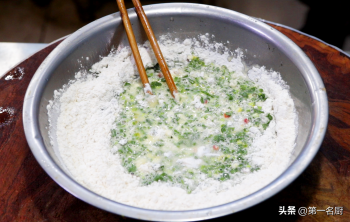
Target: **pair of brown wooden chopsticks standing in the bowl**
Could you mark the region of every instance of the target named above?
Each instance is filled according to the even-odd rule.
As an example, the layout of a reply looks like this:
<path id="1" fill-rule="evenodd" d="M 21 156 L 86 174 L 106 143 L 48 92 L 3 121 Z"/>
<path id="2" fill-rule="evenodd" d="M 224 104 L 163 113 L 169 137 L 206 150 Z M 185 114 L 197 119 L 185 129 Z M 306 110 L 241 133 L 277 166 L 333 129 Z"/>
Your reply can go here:
<path id="1" fill-rule="evenodd" d="M 118 4 L 118 8 L 119 8 L 120 14 L 121 14 L 122 19 L 123 19 L 123 23 L 124 23 L 124 27 L 125 27 L 125 30 L 126 30 L 126 34 L 128 36 L 128 39 L 129 39 L 130 47 L 131 47 L 132 53 L 133 53 L 135 61 L 136 61 L 136 66 L 137 66 L 137 69 L 138 69 L 138 71 L 140 73 L 140 78 L 141 78 L 143 87 L 144 87 L 146 93 L 152 94 L 152 90 L 151 90 L 151 87 L 149 85 L 149 81 L 148 81 L 148 77 L 147 77 L 147 74 L 146 74 L 146 70 L 145 70 L 145 68 L 143 66 L 143 62 L 142 62 L 142 59 L 141 59 L 141 56 L 140 56 L 139 49 L 137 47 L 137 43 L 136 43 L 136 39 L 135 39 L 135 36 L 134 36 L 134 32 L 133 32 L 132 27 L 131 27 L 131 23 L 130 23 L 130 20 L 129 20 L 128 12 L 127 12 L 127 10 L 125 8 L 124 0 L 116 0 L 116 1 L 117 1 L 117 4 Z M 151 25 L 149 24 L 147 16 L 146 16 L 145 12 L 143 11 L 142 5 L 141 5 L 139 0 L 132 0 L 132 3 L 135 6 L 136 13 L 137 13 L 139 19 L 141 20 L 143 28 L 145 29 L 145 32 L 146 32 L 147 37 L 148 37 L 148 40 L 151 43 L 152 49 L 153 49 L 154 54 L 155 54 L 155 56 L 157 58 L 158 64 L 160 66 L 160 69 L 161 69 L 161 71 L 162 71 L 162 73 L 164 75 L 164 78 L 166 80 L 166 83 L 167 83 L 167 85 L 169 87 L 170 93 L 175 98 L 175 94 L 177 93 L 176 85 L 174 83 L 174 80 L 173 80 L 170 72 L 169 72 L 169 69 L 168 69 L 168 66 L 167 66 L 167 64 L 165 62 L 163 54 L 160 51 L 157 39 L 154 36 L 153 30 L 151 28 Z"/>

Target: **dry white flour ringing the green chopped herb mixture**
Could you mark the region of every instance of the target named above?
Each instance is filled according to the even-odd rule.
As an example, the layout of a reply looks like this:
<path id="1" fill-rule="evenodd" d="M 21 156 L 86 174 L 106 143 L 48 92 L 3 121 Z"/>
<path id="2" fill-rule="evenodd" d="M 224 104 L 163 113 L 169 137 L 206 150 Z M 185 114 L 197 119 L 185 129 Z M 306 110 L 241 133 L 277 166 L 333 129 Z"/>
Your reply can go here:
<path id="1" fill-rule="evenodd" d="M 137 78 L 137 69 L 129 48 L 120 48 L 96 63 L 91 71 L 78 72 L 76 80 L 55 92 L 55 100 L 48 106 L 50 135 L 57 135 L 59 154 L 70 174 L 83 186 L 109 199 L 137 207 L 161 210 L 189 210 L 227 203 L 247 196 L 264 187 L 288 166 L 296 138 L 294 103 L 288 87 L 278 73 L 264 67 L 254 67 L 244 73 L 241 50 L 234 55 L 222 44 L 209 44 L 208 35 L 200 40 L 184 42 L 161 39 L 160 47 L 168 65 L 187 62 L 194 54 L 205 62 L 226 65 L 244 78 L 250 78 L 264 89 L 268 99 L 262 109 L 272 112 L 274 119 L 263 135 L 258 135 L 248 154 L 261 164 L 259 171 L 241 173 L 232 180 L 207 180 L 191 194 L 170 184 L 155 182 L 140 186 L 139 179 L 120 165 L 118 155 L 111 152 L 111 129 L 118 115 L 117 95 L 123 84 Z M 221 53 L 217 53 L 217 52 Z M 145 43 L 140 53 L 146 67 L 157 61 L 151 47 Z M 176 75 L 177 70 L 170 70 Z M 54 111 L 54 109 L 59 109 Z M 59 112 L 57 129 L 53 112 Z M 254 132 L 251 132 L 254 133 Z M 56 140 L 52 140 L 56 146 Z"/>

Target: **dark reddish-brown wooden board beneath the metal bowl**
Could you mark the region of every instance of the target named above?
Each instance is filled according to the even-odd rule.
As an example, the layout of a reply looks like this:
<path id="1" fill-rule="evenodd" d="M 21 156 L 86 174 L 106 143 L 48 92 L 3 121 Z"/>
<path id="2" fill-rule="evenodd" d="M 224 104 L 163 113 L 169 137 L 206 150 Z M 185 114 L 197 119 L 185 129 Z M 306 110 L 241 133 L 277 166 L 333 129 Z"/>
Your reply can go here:
<path id="1" fill-rule="evenodd" d="M 270 25 L 292 39 L 319 71 L 329 100 L 326 136 L 310 166 L 288 187 L 254 207 L 212 221 L 256 216 L 269 221 L 350 221 L 350 58 L 302 33 Z M 59 43 L 37 52 L 0 79 L 0 221 L 136 221 L 100 210 L 63 190 L 28 147 L 22 122 L 24 95 L 36 69 Z M 297 211 L 305 207 L 307 215 L 279 215 L 280 207 L 293 206 Z M 328 208 L 328 214 L 334 215 L 312 214 L 309 207 Z"/>

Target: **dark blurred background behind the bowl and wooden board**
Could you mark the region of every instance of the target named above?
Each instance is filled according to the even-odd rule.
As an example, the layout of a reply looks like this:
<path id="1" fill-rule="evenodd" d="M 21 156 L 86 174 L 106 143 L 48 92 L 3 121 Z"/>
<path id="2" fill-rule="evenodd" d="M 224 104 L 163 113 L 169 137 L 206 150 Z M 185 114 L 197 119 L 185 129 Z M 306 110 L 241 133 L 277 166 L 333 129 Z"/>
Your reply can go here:
<path id="1" fill-rule="evenodd" d="M 192 2 L 232 9 L 302 30 L 350 50 L 349 22 L 346 7 L 340 0 L 327 4 L 316 0 L 141 1 L 143 5 L 165 2 Z M 127 8 L 133 7 L 130 0 L 125 3 Z M 118 11 L 118 7 L 114 0 L 0 0 L 0 11 L 0 42 L 50 43 Z M 308 15 L 311 19 L 307 20 Z"/>

